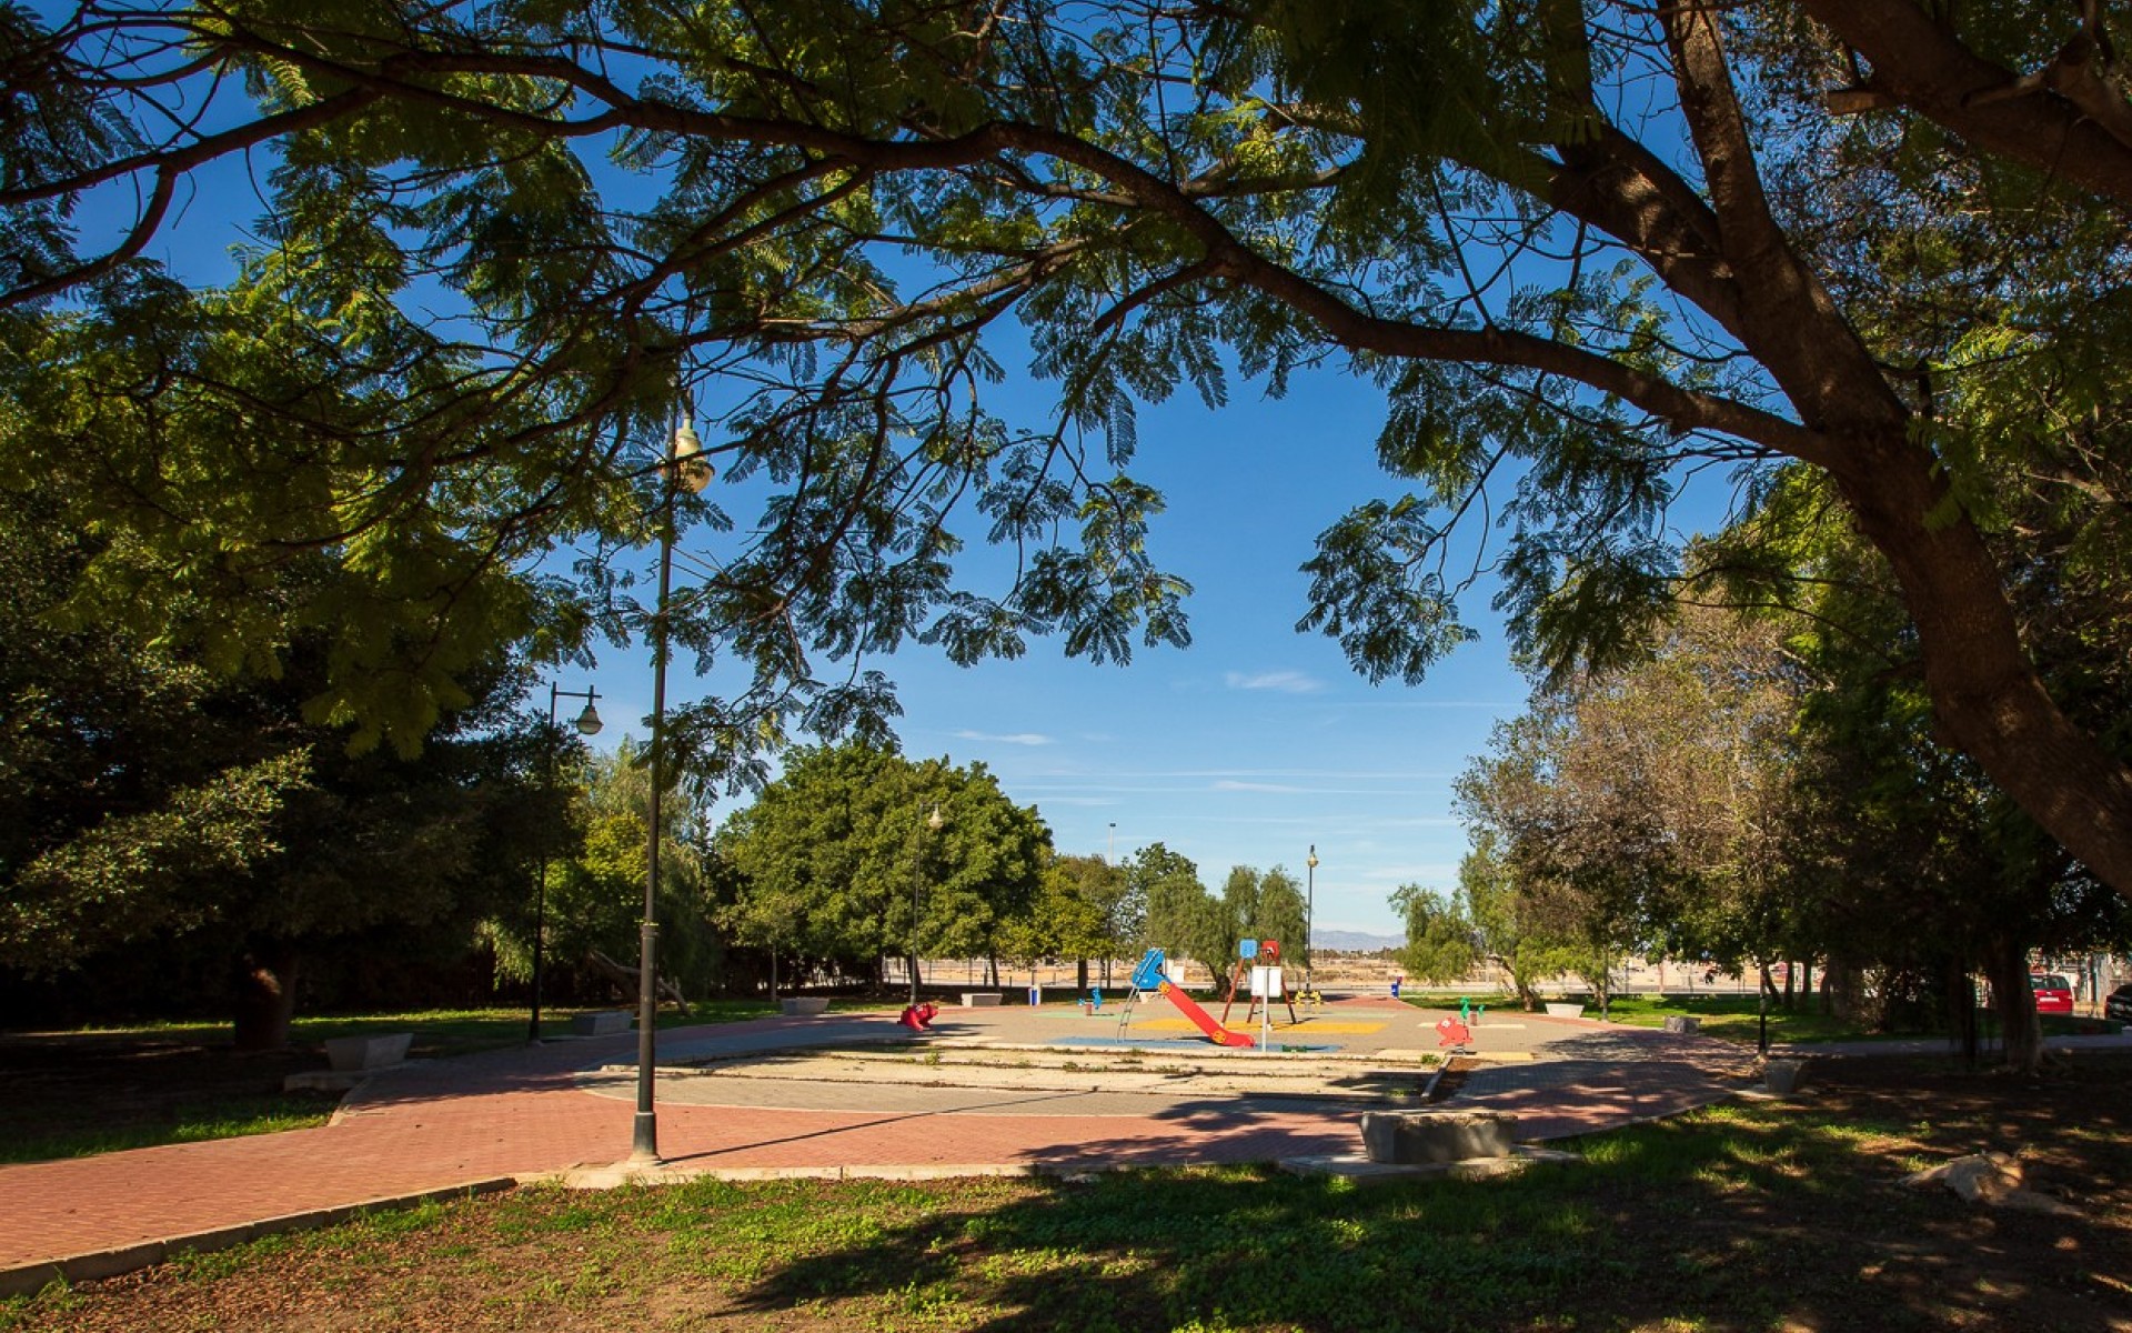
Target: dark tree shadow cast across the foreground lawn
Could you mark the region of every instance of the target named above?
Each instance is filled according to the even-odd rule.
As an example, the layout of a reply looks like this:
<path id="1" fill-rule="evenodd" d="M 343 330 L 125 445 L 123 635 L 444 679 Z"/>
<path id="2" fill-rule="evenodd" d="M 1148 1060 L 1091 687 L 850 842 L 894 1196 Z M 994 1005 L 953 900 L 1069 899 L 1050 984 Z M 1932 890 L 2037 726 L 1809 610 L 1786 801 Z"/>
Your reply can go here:
<path id="1" fill-rule="evenodd" d="M 2085 1199 L 2087 1216 L 2038 1216 L 1897 1184 L 1912 1158 L 2008 1126 L 2072 1192 L 2083 1173 L 2123 1179 L 2123 1111 L 2051 1133 L 2006 1120 L 2025 1090 L 1859 1077 L 1814 1103 L 1588 1139 L 1582 1165 L 1497 1182 L 1358 1188 L 1230 1167 L 1047 1182 L 998 1207 L 876 1186 L 893 1220 L 870 1214 L 863 1241 L 774 1265 L 742 1305 L 987 1331 L 2123 1327 L 2123 1292 L 2098 1280 L 2132 1271 L 2121 1186 Z M 1919 1096 L 1942 1118 L 1908 1120 Z M 740 1226 L 757 1199 L 687 1190 Z M 842 1190 L 834 1205 L 874 1207 L 868 1186 Z"/>

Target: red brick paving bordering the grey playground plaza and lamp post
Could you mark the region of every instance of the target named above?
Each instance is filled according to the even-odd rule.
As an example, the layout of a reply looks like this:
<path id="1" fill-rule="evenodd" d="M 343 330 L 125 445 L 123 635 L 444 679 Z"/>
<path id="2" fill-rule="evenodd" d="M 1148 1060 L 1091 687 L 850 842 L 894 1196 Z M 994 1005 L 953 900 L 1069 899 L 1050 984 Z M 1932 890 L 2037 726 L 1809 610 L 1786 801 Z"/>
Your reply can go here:
<path id="1" fill-rule="evenodd" d="M 778 1022 L 716 1032 L 750 1034 Z M 482 1179 L 612 1165 L 629 1154 L 635 1105 L 586 1092 L 574 1073 L 588 1062 L 629 1060 L 633 1049 L 633 1037 L 612 1037 L 409 1066 L 373 1079 L 322 1128 L 0 1167 L 0 1269 Z M 1654 1064 L 1605 1088 L 1539 1088 L 1503 1105 L 1529 1118 L 1520 1137 L 1556 1137 L 1710 1098 L 1706 1086 L 1691 1088 L 1667 1069 L 1676 1066 Z M 1209 1122 L 659 1107 L 665 1160 L 706 1171 L 1247 1162 L 1358 1145 L 1354 1109 Z"/>

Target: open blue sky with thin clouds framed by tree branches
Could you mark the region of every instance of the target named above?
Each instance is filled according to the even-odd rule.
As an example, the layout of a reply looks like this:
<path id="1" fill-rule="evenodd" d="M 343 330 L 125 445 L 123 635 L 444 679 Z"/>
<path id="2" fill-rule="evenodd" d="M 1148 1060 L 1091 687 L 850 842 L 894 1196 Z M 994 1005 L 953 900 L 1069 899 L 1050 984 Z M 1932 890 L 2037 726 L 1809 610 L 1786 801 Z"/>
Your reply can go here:
<path id="1" fill-rule="evenodd" d="M 1043 412 L 1043 386 L 1017 407 Z M 1450 889 L 1465 834 L 1452 778 L 1497 719 L 1522 708 L 1488 584 L 1469 595 L 1482 642 L 1409 689 L 1356 676 L 1332 640 L 1296 633 L 1309 578 L 1298 569 L 1320 529 L 1350 505 L 1399 486 L 1375 465 L 1382 395 L 1337 373 L 1298 378 L 1264 401 L 1196 397 L 1149 407 L 1134 476 L 1164 491 L 1149 544 L 1188 578 L 1190 648 L 1141 648 L 1126 668 L 1068 661 L 1034 642 L 1019 661 L 957 668 L 915 646 L 874 665 L 900 687 L 904 751 L 983 761 L 1006 793 L 1034 804 L 1060 851 L 1130 855 L 1164 842 L 1220 887 L 1230 866 L 1286 866 L 1313 885 L 1320 930 L 1399 934 L 1388 896 L 1403 883 Z M 974 525 L 966 525 L 974 527 Z M 689 537 L 716 550 L 716 535 Z M 974 567 L 983 565 L 974 557 Z M 979 574 L 981 578 L 981 574 Z M 644 734 L 650 665 L 642 648 L 603 648 L 591 676 L 608 732 Z M 706 685 L 684 661 L 674 702 Z M 1113 834 L 1115 825 L 1115 834 Z"/>

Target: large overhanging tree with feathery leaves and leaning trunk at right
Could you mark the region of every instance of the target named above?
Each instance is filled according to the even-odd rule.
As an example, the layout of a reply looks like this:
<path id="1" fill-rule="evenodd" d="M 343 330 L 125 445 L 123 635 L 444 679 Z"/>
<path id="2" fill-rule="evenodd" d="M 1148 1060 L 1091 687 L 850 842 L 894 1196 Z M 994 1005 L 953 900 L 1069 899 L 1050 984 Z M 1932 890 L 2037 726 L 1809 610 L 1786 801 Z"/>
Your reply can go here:
<path id="1" fill-rule="evenodd" d="M 753 685 L 678 736 L 746 772 L 765 734 L 889 714 L 819 659 L 1181 642 L 1136 401 L 1345 356 L 1414 482 L 1311 563 L 1303 625 L 1362 672 L 1471 638 L 1445 542 L 1477 512 L 1533 659 L 1618 659 L 1742 574 L 1684 559 L 1678 480 L 1797 461 L 1887 557 L 1938 734 L 2132 894 L 2132 770 L 2038 670 L 2002 555 L 2132 550 L 2102 6 L 113 0 L 0 38 L 0 482 L 90 478 L 83 525 L 222 608 L 217 659 L 269 655 L 243 595 L 330 550 L 356 578 L 316 700 L 375 734 L 420 734 L 499 633 L 640 614 L 599 557 L 591 595 L 527 569 L 642 540 L 676 382 L 761 484 L 691 505 L 736 535 L 682 599 Z M 143 264 L 247 154 L 241 282 Z M 1017 318 L 1051 420 L 989 412 Z M 1028 548 L 1008 589 L 953 584 L 970 535 Z M 124 567 L 90 587 L 147 616 Z"/>

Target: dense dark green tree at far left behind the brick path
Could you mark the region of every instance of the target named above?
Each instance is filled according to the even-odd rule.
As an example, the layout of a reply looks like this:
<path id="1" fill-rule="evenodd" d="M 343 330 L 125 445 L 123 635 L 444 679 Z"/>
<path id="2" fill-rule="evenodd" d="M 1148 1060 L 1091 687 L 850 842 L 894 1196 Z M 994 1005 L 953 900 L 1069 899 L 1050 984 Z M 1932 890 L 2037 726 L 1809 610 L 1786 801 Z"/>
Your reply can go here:
<path id="1" fill-rule="evenodd" d="M 239 1043 L 269 1047 L 305 960 L 465 951 L 475 921 L 520 911 L 546 808 L 518 665 L 469 676 L 422 755 L 350 755 L 303 708 L 320 629 L 288 633 L 279 678 L 230 680 L 126 625 L 68 627 L 96 540 L 62 514 L 0 491 L 0 966 L 183 955 L 224 979 Z M 335 576 L 301 561 L 277 587 Z"/>

